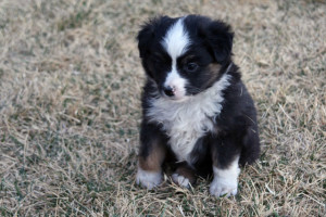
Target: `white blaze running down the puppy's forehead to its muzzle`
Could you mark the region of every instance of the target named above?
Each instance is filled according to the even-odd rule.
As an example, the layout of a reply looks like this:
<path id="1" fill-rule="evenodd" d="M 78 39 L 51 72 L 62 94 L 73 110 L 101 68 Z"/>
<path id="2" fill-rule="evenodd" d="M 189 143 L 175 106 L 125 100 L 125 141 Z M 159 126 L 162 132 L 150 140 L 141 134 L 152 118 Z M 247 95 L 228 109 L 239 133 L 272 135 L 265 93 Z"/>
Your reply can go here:
<path id="1" fill-rule="evenodd" d="M 184 27 L 184 18 L 179 18 L 166 33 L 162 46 L 172 58 L 172 69 L 167 74 L 164 86 L 174 90 L 175 99 L 183 99 L 186 94 L 187 80 L 177 72 L 177 58 L 187 51 L 190 44 L 188 33 Z"/>

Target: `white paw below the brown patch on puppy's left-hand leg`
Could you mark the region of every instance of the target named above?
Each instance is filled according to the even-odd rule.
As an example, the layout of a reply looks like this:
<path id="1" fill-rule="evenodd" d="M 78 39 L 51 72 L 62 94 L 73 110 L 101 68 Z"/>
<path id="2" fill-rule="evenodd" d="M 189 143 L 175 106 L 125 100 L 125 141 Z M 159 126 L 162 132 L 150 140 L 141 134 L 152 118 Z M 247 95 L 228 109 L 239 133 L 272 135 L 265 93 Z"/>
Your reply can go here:
<path id="1" fill-rule="evenodd" d="M 146 171 L 141 168 L 138 168 L 136 175 L 136 183 L 141 184 L 143 188 L 149 190 L 153 189 L 154 187 L 159 186 L 162 182 L 162 173 L 159 171 Z"/>

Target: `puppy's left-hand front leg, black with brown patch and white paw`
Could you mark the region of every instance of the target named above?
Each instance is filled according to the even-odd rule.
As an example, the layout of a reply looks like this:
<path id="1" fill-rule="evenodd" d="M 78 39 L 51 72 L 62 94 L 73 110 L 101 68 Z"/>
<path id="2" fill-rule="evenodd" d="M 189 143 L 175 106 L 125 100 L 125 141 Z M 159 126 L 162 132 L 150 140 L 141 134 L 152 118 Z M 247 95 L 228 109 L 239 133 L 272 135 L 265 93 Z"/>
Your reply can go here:
<path id="1" fill-rule="evenodd" d="M 155 125 L 142 123 L 136 183 L 152 189 L 162 182 L 165 139 Z"/>

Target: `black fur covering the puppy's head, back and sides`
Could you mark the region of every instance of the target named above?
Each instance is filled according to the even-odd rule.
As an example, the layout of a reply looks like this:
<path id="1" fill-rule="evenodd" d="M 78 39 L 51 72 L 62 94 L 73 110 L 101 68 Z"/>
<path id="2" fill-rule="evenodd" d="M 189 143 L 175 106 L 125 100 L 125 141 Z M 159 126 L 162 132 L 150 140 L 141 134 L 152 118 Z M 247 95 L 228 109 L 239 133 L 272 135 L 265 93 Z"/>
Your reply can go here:
<path id="1" fill-rule="evenodd" d="M 160 41 L 178 18 L 167 16 L 156 17 L 142 26 L 138 34 L 138 48 L 141 62 L 148 79 L 142 92 L 143 118 L 140 131 L 139 155 L 146 157 L 153 139 L 167 145 L 168 137 L 160 123 L 149 123 L 147 111 L 150 99 L 160 98 L 166 73 L 171 71 L 171 58 L 162 48 Z M 260 153 L 256 112 L 253 101 L 241 81 L 239 68 L 231 62 L 231 47 L 234 33 L 230 26 L 221 21 L 212 21 L 204 16 L 189 15 L 185 18 L 185 26 L 191 39 L 189 50 L 178 58 L 178 72 L 189 81 L 187 94 L 198 94 L 216 82 L 228 68 L 231 76 L 230 86 L 224 93 L 223 110 L 217 117 L 212 117 L 215 130 L 199 138 L 191 152 L 191 167 L 199 174 L 209 171 L 214 162 L 220 168 L 226 168 L 229 163 L 240 155 L 241 165 L 251 164 Z M 199 63 L 198 73 L 189 74 L 183 69 L 187 56 L 195 56 L 191 61 Z M 214 80 L 209 65 L 221 65 Z M 210 80 L 210 81 L 208 81 Z"/>

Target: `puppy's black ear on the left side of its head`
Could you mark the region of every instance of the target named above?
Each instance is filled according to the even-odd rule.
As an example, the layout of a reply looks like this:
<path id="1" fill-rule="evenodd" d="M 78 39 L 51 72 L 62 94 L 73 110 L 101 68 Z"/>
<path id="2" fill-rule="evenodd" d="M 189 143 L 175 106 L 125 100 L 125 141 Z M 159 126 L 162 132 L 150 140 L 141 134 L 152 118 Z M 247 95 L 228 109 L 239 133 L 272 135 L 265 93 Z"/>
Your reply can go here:
<path id="1" fill-rule="evenodd" d="M 146 23 L 141 30 L 138 33 L 137 40 L 138 40 L 138 50 L 139 56 L 142 59 L 148 53 L 149 43 L 154 36 L 154 22 L 150 21 Z"/>

